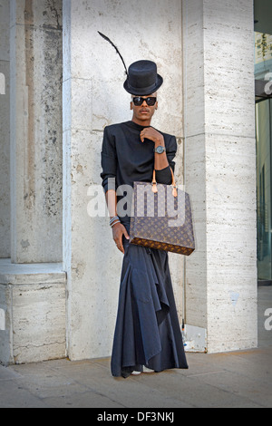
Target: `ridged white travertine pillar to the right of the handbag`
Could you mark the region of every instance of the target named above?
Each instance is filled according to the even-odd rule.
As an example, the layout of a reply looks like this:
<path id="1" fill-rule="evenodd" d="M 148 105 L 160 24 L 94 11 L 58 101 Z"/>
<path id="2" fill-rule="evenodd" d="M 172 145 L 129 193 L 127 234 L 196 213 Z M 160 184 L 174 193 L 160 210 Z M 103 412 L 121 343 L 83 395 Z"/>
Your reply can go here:
<path id="1" fill-rule="evenodd" d="M 183 0 L 185 171 L 196 252 L 186 266 L 189 346 L 257 346 L 253 2 Z M 200 327 L 195 328 L 195 327 Z"/>

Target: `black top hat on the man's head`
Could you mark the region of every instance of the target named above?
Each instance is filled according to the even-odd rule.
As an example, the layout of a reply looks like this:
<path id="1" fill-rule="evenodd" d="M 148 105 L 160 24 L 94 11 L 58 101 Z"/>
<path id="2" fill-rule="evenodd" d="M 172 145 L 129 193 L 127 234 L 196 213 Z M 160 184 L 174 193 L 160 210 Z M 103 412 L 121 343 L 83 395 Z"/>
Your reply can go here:
<path id="1" fill-rule="evenodd" d="M 138 61 L 129 68 L 128 78 L 123 87 L 131 94 L 146 96 L 160 89 L 162 77 L 157 73 L 157 65 L 151 61 Z"/>

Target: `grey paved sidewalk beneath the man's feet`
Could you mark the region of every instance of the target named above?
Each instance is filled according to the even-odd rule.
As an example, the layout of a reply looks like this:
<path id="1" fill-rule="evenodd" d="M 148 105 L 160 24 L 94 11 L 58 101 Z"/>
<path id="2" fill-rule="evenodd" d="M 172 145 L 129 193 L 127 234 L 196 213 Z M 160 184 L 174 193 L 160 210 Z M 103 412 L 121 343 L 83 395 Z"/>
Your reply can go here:
<path id="1" fill-rule="evenodd" d="M 125 380 L 112 377 L 110 359 L 0 366 L 0 408 L 271 408 L 272 331 L 264 312 L 272 287 L 258 291 L 258 349 L 187 353 L 189 370 Z"/>

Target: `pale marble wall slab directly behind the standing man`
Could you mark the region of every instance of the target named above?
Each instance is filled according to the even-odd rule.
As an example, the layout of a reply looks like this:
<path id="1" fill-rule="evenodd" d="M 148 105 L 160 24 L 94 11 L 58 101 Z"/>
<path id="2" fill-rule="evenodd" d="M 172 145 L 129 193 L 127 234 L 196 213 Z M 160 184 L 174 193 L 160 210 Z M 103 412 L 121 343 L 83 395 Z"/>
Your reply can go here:
<path id="1" fill-rule="evenodd" d="M 72 359 L 111 353 L 121 274 L 122 255 L 113 244 L 108 218 L 87 214 L 89 187 L 101 187 L 103 128 L 131 120 L 131 97 L 122 88 L 123 65 L 97 31 L 117 44 L 127 66 L 140 59 L 158 63 L 165 83 L 153 125 L 174 133 L 180 142 L 180 25 L 180 0 L 63 2 L 63 258 L 68 272 L 67 333 Z M 180 312 L 183 259 L 173 255 L 171 260 Z"/>

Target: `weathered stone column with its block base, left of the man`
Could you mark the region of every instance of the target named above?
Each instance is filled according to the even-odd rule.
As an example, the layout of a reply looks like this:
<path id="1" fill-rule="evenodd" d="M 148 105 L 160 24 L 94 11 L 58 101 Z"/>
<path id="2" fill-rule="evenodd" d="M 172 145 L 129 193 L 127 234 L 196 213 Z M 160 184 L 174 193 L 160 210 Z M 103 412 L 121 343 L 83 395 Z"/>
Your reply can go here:
<path id="1" fill-rule="evenodd" d="M 11 7 L 10 22 L 8 12 L 5 18 L 2 15 L 8 9 L 7 4 Z M 66 354 L 66 275 L 62 264 L 62 1 L 11 0 L 1 1 L 1 6 L 1 25 L 5 23 L 5 30 L 10 26 L 11 142 L 9 147 L 6 124 L 9 111 L 6 107 L 2 119 L 1 94 L 0 124 L 2 128 L 4 123 L 5 143 L 3 146 L 1 134 L 0 257 L 5 258 L 0 259 L 0 363 L 31 363 Z M 5 40 L 2 28 L 1 55 Z M 7 31 L 3 34 L 9 38 Z M 11 259 L 8 243 L 4 253 L 2 250 L 3 229 L 5 242 L 11 239 Z"/>

